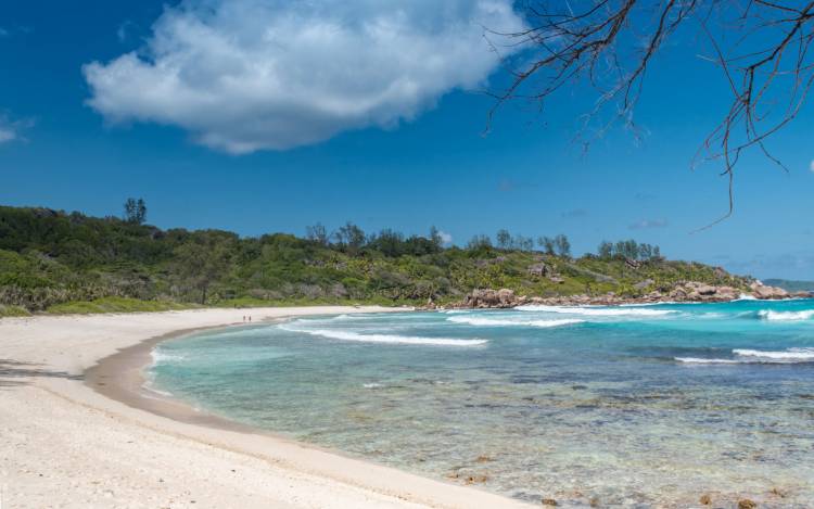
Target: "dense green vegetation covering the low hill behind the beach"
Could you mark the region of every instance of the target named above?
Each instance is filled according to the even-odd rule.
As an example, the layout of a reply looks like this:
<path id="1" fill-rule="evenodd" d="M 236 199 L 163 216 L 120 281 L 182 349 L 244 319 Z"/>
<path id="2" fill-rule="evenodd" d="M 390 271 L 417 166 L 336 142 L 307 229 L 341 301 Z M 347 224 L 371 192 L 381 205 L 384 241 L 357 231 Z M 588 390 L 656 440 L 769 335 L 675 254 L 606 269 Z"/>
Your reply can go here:
<path id="1" fill-rule="evenodd" d="M 748 280 L 695 263 L 669 262 L 647 244 L 602 243 L 572 258 L 564 236 L 534 242 L 498 232 L 466 249 L 440 233 L 366 234 L 353 224 L 306 238 L 241 238 L 219 230 L 144 225 L 143 202 L 124 219 L 48 208 L 0 207 L 0 315 L 91 313 L 317 303 L 416 304 L 460 301 L 476 288 L 552 296 L 637 294 L 696 280 L 742 287 Z M 608 247 L 610 245 L 610 247 Z"/>

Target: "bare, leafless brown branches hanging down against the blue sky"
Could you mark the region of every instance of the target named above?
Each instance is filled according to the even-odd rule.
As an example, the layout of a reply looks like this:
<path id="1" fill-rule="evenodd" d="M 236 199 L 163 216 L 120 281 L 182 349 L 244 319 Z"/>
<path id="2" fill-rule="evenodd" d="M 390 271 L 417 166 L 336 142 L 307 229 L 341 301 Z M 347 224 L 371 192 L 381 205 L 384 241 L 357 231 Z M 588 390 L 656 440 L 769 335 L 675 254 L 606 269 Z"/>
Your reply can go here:
<path id="1" fill-rule="evenodd" d="M 492 36 L 532 54 L 526 51 L 517 65 L 507 60 L 511 80 L 494 92 L 489 118 L 516 98 L 538 101 L 543 110 L 558 91 L 584 81 L 597 100 L 583 115 L 583 133 L 601 137 L 622 123 L 638 136 L 634 112 L 648 67 L 679 27 L 697 27 L 700 37 L 685 34 L 687 41 L 703 46 L 697 53 L 721 69 L 732 91 L 728 110 L 702 142 L 697 161 L 723 162 L 722 175 L 728 178 L 728 209 L 712 225 L 733 213 L 735 167 L 745 150 L 756 148 L 783 167 L 765 141 L 796 118 L 814 85 L 814 52 L 809 51 L 814 2 L 529 0 L 522 5 L 527 28 Z"/>

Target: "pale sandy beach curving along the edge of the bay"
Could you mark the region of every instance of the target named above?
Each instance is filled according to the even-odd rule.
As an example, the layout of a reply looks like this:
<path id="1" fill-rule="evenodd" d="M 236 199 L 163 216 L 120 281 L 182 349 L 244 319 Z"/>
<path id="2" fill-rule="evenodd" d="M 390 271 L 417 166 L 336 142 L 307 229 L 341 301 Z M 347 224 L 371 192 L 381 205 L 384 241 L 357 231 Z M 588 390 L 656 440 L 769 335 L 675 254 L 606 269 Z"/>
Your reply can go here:
<path id="1" fill-rule="evenodd" d="M 0 507 L 512 508 L 473 487 L 150 400 L 150 347 L 201 328 L 376 307 L 0 320 Z M 113 356 L 113 357 L 112 357 Z M 106 359 L 99 365 L 99 361 Z"/>

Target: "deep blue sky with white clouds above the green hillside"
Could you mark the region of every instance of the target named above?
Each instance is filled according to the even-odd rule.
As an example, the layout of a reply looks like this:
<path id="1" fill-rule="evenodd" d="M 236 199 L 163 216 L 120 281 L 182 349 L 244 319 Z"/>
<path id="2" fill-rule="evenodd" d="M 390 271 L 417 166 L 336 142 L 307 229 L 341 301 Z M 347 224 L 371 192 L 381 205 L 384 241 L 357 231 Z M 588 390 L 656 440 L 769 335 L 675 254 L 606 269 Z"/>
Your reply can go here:
<path id="1" fill-rule="evenodd" d="M 441 5 L 441 7 L 438 7 Z M 595 94 L 498 110 L 483 26 L 510 0 L 189 0 L 0 4 L 0 204 L 120 215 L 162 228 L 304 234 L 317 221 L 462 245 L 507 228 L 575 253 L 634 238 L 671 258 L 814 279 L 814 107 L 727 182 L 694 156 L 730 101 L 679 34 L 651 64 L 636 119 L 574 143 Z M 523 58 L 522 54 L 518 58 Z"/>

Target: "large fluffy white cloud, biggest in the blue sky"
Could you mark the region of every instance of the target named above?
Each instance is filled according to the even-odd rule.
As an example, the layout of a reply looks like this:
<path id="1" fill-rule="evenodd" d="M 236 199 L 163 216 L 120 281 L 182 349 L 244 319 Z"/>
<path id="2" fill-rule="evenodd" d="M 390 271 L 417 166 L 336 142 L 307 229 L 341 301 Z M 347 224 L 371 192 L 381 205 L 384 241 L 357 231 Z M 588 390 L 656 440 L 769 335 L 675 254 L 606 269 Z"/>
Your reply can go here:
<path id="1" fill-rule="evenodd" d="M 232 153 L 285 150 L 394 127 L 483 85 L 498 64 L 484 26 L 523 21 L 511 0 L 188 0 L 140 51 L 84 73 L 110 122 L 180 126 Z"/>

